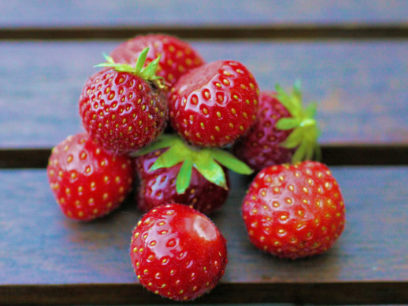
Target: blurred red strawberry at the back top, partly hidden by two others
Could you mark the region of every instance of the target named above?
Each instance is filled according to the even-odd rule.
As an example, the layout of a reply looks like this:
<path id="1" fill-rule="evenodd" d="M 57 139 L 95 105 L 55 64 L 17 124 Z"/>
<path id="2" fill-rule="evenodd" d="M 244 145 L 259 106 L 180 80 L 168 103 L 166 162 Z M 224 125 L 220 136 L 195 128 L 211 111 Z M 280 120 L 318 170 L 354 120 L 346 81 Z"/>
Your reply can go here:
<path id="1" fill-rule="evenodd" d="M 170 86 L 174 85 L 182 74 L 204 63 L 202 57 L 188 43 L 163 34 L 136 36 L 121 43 L 112 51 L 111 56 L 115 62 L 134 65 L 145 47 L 149 47 L 146 63 L 161 55 L 157 74 Z"/>

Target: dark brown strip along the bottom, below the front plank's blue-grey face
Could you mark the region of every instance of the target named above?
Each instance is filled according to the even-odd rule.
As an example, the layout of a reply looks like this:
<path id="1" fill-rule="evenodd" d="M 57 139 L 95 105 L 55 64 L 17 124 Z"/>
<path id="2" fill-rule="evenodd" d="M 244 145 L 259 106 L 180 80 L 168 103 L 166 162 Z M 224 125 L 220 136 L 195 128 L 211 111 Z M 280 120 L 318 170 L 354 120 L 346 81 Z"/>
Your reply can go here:
<path id="1" fill-rule="evenodd" d="M 168 304 L 139 284 L 0 285 L 2 305 Z M 194 303 L 405 304 L 408 283 L 220 283 Z"/>

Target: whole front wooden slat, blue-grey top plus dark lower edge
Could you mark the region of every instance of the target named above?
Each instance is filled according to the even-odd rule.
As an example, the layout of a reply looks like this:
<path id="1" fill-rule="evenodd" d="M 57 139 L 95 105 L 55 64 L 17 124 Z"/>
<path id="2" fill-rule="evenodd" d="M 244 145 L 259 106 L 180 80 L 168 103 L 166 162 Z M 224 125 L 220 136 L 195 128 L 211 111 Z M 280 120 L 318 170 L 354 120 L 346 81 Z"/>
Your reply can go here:
<path id="1" fill-rule="evenodd" d="M 408 168 L 333 173 L 347 208 L 345 231 L 328 252 L 297 261 L 249 243 L 240 216 L 249 178 L 232 175 L 231 195 L 212 216 L 229 262 L 221 284 L 198 302 L 408 303 Z M 0 304 L 163 301 L 138 285 L 131 268 L 130 234 L 140 216 L 132 201 L 78 223 L 60 213 L 45 170 L 3 170 L 0 181 Z"/>

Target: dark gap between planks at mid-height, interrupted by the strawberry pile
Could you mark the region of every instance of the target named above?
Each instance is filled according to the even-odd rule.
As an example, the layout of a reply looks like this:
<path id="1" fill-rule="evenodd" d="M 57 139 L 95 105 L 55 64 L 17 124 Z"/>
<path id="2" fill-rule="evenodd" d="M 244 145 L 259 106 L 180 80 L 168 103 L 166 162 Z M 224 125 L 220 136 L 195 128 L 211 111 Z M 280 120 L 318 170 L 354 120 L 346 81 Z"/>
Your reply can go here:
<path id="1" fill-rule="evenodd" d="M 408 144 L 323 145 L 322 162 L 329 166 L 407 165 Z M 0 149 L 0 169 L 46 168 L 50 148 Z"/>

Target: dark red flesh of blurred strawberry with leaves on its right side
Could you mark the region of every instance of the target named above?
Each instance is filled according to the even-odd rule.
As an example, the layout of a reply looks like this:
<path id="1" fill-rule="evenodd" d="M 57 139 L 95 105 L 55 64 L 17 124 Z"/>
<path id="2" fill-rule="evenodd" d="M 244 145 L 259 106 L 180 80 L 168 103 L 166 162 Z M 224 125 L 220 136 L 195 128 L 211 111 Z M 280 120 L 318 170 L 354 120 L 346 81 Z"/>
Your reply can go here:
<path id="1" fill-rule="evenodd" d="M 289 163 L 295 149 L 281 146 L 292 130 L 278 130 L 276 122 L 291 117 L 273 91 L 259 95 L 257 122 L 233 147 L 234 155 L 256 171 L 277 164 Z"/>

